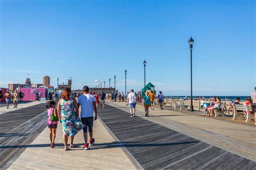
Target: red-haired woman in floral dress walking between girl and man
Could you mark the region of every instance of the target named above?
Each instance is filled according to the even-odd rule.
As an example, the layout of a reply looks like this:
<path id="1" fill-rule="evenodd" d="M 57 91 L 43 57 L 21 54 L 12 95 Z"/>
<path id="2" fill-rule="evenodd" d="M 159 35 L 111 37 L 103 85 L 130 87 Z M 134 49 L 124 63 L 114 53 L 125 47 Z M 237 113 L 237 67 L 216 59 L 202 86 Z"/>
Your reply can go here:
<path id="1" fill-rule="evenodd" d="M 69 150 L 67 146 L 68 137 L 70 138 L 70 147 L 75 147 L 75 145 L 73 145 L 74 137 L 78 131 L 83 129 L 83 124 L 79 118 L 77 101 L 71 99 L 70 96 L 71 89 L 65 88 L 62 98 L 58 102 L 58 117 L 63 127 L 65 151 Z"/>

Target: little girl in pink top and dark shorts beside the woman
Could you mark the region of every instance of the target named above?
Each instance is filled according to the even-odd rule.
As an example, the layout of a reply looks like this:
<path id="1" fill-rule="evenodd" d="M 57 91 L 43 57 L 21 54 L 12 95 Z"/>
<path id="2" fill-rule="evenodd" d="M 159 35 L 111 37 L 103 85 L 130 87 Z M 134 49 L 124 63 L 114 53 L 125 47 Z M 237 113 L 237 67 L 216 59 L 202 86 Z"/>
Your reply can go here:
<path id="1" fill-rule="evenodd" d="M 50 130 L 50 140 L 51 140 L 51 148 L 53 148 L 55 146 L 55 137 L 56 137 L 56 129 L 57 129 L 57 124 L 58 122 L 56 121 L 51 121 L 51 116 L 52 114 L 55 117 L 58 117 L 58 113 L 57 113 L 57 109 L 56 107 L 56 103 L 54 101 L 50 101 L 48 103 L 48 105 L 46 105 L 47 111 L 48 111 L 48 119 L 47 119 L 47 124 L 48 124 L 48 128 Z"/>

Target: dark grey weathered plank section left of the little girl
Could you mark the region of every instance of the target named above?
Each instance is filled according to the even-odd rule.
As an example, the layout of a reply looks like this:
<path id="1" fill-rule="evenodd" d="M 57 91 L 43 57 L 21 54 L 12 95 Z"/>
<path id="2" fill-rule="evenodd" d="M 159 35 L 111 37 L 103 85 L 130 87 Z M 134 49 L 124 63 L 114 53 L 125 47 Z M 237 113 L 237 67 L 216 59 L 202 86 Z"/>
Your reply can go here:
<path id="1" fill-rule="evenodd" d="M 46 127 L 46 104 L 0 115 L 0 168 L 7 168 Z"/>

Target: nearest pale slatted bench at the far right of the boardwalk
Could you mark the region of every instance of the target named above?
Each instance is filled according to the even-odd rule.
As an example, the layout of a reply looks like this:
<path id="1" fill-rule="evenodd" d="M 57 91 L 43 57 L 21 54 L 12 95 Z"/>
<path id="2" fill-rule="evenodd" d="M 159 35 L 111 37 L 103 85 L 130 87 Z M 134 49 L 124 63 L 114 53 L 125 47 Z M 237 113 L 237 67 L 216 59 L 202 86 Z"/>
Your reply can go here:
<path id="1" fill-rule="evenodd" d="M 233 103 L 233 108 L 234 108 L 233 120 L 237 119 L 240 115 L 243 115 L 242 119 L 246 118 L 245 122 L 249 122 L 251 119 L 254 119 L 254 116 L 250 114 L 250 112 L 252 111 L 251 106 Z M 245 114 L 245 111 L 247 112 L 247 114 Z"/>

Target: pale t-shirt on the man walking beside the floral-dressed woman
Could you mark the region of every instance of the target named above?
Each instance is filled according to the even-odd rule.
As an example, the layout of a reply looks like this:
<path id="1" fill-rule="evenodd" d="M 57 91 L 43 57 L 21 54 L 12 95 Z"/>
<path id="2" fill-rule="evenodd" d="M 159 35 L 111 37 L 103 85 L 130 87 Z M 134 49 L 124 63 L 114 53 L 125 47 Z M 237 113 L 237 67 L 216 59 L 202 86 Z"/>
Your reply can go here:
<path id="1" fill-rule="evenodd" d="M 93 117 L 93 102 L 95 97 L 90 94 L 83 94 L 78 98 L 78 103 L 81 104 L 81 117 Z"/>

